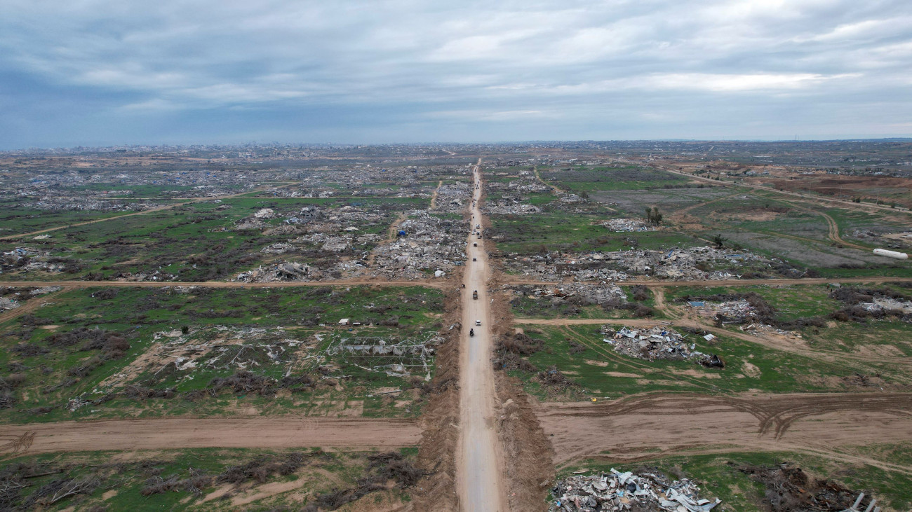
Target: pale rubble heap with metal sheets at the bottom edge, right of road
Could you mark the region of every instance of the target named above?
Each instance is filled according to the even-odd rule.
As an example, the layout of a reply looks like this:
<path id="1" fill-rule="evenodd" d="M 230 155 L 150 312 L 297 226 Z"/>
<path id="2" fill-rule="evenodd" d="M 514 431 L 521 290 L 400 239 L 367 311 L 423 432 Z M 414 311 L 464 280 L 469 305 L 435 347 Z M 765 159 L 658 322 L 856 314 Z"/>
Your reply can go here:
<path id="1" fill-rule="evenodd" d="M 710 512 L 721 503 L 700 498 L 700 487 L 688 478 L 669 481 L 658 473 L 621 473 L 613 467 L 598 476 L 568 476 L 551 494 L 549 512 Z"/>

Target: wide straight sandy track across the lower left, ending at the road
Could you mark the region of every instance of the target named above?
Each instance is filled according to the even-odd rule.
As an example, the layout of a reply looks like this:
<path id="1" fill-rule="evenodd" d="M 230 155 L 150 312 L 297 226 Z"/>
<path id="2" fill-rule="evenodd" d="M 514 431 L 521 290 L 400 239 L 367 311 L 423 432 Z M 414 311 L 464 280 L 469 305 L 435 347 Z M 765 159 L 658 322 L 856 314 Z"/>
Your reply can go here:
<path id="1" fill-rule="evenodd" d="M 34 434 L 29 453 L 171 448 L 290 448 L 322 446 L 390 449 L 418 445 L 421 429 L 404 419 L 250 416 L 65 421 L 0 425 L 3 452 Z"/>

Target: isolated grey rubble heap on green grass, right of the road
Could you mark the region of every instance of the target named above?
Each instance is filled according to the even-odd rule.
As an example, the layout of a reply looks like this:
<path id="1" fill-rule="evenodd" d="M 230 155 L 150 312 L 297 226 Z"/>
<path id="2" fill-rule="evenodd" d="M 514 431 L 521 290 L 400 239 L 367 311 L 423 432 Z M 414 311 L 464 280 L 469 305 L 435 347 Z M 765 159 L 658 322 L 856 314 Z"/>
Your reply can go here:
<path id="1" fill-rule="evenodd" d="M 712 334 L 704 336 L 708 341 L 714 337 Z M 690 361 L 707 368 L 725 367 L 725 363 L 718 355 L 695 351 L 696 343 L 688 343 L 683 335 L 666 325 L 640 330 L 624 327 L 617 331 L 613 338 L 605 338 L 604 341 L 610 343 L 615 352 L 638 359 L 671 359 Z"/>

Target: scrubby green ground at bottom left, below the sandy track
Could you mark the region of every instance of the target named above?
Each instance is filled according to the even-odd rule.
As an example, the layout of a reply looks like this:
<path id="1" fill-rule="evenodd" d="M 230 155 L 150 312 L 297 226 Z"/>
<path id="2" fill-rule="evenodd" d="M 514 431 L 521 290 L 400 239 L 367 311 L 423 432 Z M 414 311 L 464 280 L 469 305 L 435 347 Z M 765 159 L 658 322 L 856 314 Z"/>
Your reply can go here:
<path id="1" fill-rule="evenodd" d="M 392 456 L 400 456 L 410 465 L 414 454 L 415 449 L 407 448 Z M 370 458 L 377 455 L 318 448 L 198 448 L 129 457 L 121 457 L 119 452 L 81 452 L 15 456 L 7 458 L 0 471 L 8 481 L 27 484 L 7 493 L 11 505 L 50 501 L 52 489 L 61 482 L 91 484 L 84 492 L 45 506 L 46 510 L 98 506 L 109 510 L 230 510 L 241 503 L 251 509 L 299 509 L 321 495 L 358 487 L 361 478 L 376 476 L 379 480 L 385 463 Z M 276 485 L 283 488 L 276 490 Z M 391 496 L 403 499 L 405 495 L 395 488 Z"/>

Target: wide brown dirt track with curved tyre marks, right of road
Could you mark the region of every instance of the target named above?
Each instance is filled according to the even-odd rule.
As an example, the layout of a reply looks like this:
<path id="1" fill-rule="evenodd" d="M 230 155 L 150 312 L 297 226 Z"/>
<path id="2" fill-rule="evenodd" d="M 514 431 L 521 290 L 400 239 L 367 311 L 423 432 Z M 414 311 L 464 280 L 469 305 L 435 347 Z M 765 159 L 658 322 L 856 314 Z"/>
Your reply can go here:
<path id="1" fill-rule="evenodd" d="M 606 403 L 544 403 L 535 414 L 558 464 L 680 452 L 785 450 L 833 456 L 840 447 L 912 438 L 912 394 L 645 394 Z M 912 466 L 839 454 L 912 474 Z"/>

